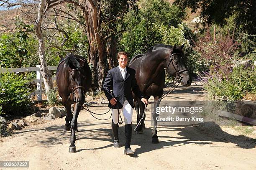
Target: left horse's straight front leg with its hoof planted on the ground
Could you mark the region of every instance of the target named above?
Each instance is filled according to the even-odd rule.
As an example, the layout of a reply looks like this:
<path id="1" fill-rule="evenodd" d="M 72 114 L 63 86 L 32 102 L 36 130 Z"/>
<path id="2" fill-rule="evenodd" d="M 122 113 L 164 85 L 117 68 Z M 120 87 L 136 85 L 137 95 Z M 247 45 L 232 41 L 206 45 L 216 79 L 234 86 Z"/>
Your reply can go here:
<path id="1" fill-rule="evenodd" d="M 78 104 L 74 105 L 74 116 L 73 119 L 71 121 L 71 133 L 70 133 L 70 146 L 69 146 L 69 153 L 74 153 L 76 152 L 76 146 L 74 145 L 75 141 L 76 141 L 76 129 L 77 129 L 77 117 L 79 115 L 81 106 L 79 106 Z"/>

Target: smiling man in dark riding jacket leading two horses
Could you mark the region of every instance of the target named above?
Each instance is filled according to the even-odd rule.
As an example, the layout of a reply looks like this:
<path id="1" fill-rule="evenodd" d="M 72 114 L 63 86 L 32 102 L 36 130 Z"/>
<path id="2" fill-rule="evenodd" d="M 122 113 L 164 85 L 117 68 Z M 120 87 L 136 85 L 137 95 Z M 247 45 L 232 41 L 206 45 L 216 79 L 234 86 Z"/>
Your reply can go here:
<path id="1" fill-rule="evenodd" d="M 141 99 L 144 104 L 148 104 L 148 100 L 143 98 L 141 91 L 135 79 L 135 70 L 127 67 L 128 54 L 125 52 L 118 53 L 119 65 L 108 71 L 108 75 L 104 81 L 103 90 L 110 101 L 108 107 L 112 108 L 112 132 L 114 136 L 115 148 L 119 148 L 118 138 L 118 109 L 123 112 L 125 121 L 125 150 L 124 154 L 133 155 L 131 150 L 131 135 L 132 135 L 132 116 L 133 116 L 133 93 Z M 113 93 L 111 93 L 113 89 Z"/>

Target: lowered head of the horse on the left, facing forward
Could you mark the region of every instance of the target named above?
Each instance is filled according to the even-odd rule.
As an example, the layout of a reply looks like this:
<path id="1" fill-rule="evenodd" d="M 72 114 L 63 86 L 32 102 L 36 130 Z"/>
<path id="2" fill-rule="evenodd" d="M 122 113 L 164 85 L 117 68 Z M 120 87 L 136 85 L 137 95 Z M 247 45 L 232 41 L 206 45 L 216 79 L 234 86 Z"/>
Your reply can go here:
<path id="1" fill-rule="evenodd" d="M 72 63 L 74 64 L 74 63 Z M 79 105 L 84 104 L 84 81 L 85 81 L 85 76 L 83 72 L 83 67 L 84 64 L 79 64 L 77 63 L 77 66 L 74 67 L 69 64 L 69 67 L 71 70 L 69 71 L 69 87 L 72 90 L 72 98 L 73 101 L 76 102 Z"/>

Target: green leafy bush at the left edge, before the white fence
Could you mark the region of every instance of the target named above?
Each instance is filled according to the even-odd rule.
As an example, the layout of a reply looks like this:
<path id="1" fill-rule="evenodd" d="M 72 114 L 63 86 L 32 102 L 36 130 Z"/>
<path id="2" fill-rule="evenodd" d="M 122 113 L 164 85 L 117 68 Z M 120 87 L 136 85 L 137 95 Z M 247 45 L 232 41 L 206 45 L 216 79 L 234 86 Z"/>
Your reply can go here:
<path id="1" fill-rule="evenodd" d="M 30 108 L 29 93 L 31 87 L 30 74 L 18 75 L 13 73 L 0 74 L 0 105 L 3 112 L 19 114 Z"/>

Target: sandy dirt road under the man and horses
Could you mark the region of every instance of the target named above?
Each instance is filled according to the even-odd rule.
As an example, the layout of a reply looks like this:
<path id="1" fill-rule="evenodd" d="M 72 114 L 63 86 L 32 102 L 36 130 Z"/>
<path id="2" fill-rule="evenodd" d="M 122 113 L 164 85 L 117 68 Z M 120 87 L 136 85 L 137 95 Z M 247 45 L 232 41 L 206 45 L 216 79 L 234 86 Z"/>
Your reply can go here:
<path id="1" fill-rule="evenodd" d="M 202 100 L 203 96 L 193 90 L 199 88 L 195 84 L 189 88 L 179 86 L 166 99 Z M 100 104 L 90 109 L 104 112 L 107 105 Z M 149 112 L 146 113 L 144 133 L 133 132 L 131 147 L 136 153 L 133 157 L 123 155 L 124 147 L 113 147 L 111 120 L 96 120 L 82 110 L 78 117 L 76 153 L 68 153 L 69 132 L 64 130 L 64 118 L 59 118 L 4 137 L 0 142 L 0 161 L 29 161 L 29 168 L 20 168 L 22 170 L 256 169 L 256 144 L 253 139 L 226 133 L 228 137 L 224 136 L 223 140 L 211 137 L 195 126 L 159 126 L 160 143 L 152 144 L 151 117 Z M 136 114 L 133 112 L 133 124 L 135 121 Z M 124 143 L 124 125 L 120 126 L 119 133 L 120 142 Z"/>

